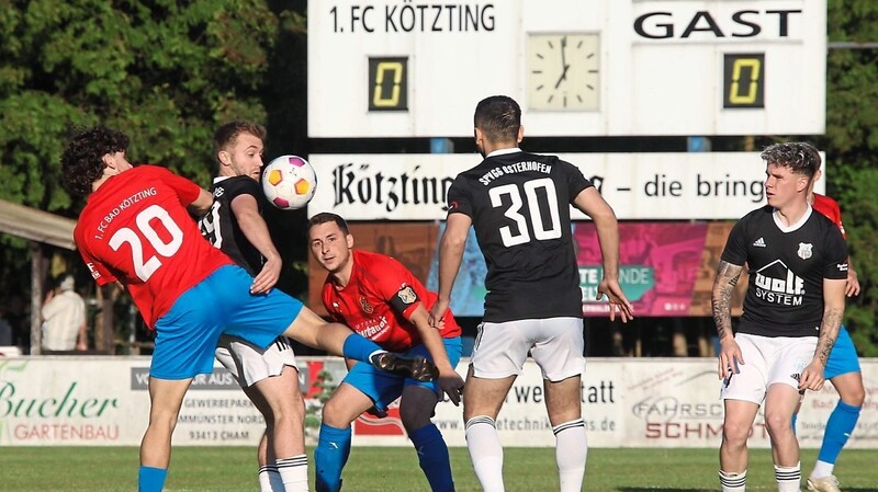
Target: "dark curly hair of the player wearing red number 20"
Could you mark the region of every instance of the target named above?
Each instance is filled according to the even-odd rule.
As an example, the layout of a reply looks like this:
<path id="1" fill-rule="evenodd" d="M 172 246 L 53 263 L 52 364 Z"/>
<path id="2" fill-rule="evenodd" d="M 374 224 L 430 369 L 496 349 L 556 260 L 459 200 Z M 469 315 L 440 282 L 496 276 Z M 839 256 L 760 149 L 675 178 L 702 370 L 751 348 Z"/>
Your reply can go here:
<path id="1" fill-rule="evenodd" d="M 100 125 L 79 131 L 61 153 L 64 186 L 75 195 L 88 195 L 103 176 L 103 157 L 127 148 L 128 136 L 122 131 Z"/>

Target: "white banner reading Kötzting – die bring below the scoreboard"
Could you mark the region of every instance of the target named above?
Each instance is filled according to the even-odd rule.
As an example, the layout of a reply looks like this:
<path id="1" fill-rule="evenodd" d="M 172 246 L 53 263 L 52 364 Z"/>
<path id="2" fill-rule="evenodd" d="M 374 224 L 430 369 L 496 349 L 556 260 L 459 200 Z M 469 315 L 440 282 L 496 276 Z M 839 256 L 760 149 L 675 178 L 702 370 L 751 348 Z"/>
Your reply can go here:
<path id="1" fill-rule="evenodd" d="M 620 220 L 738 220 L 765 204 L 759 152 L 558 156 L 579 168 Z M 312 155 L 319 185 L 308 216 L 333 211 L 351 221 L 442 220 L 454 178 L 481 160 L 475 153 Z M 814 191 L 824 193 L 825 182 L 818 181 Z M 572 218 L 587 219 L 576 209 Z"/>

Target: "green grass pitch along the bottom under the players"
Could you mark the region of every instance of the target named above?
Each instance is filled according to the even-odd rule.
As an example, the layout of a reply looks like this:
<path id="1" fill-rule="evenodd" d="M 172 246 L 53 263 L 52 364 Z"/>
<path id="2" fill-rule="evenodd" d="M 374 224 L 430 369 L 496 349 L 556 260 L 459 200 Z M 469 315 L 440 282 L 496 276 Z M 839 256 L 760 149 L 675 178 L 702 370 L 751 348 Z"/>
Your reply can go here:
<path id="1" fill-rule="evenodd" d="M 554 450 L 507 448 L 508 492 L 558 490 Z M 313 449 L 308 450 L 312 459 Z M 803 474 L 815 450 L 802 451 Z M 255 449 L 178 447 L 173 450 L 168 492 L 257 492 Z M 458 492 L 481 490 L 464 448 L 451 449 Z M 309 464 L 311 465 L 311 464 Z M 309 470 L 313 477 L 313 467 Z M 717 449 L 590 449 L 586 491 L 689 492 L 719 490 Z M 836 467 L 845 492 L 878 491 L 878 451 L 847 449 Z M 132 447 L 0 448 L 0 491 L 134 491 L 137 449 Z M 311 481 L 313 487 L 313 479 Z M 751 451 L 748 491 L 774 491 L 767 449 Z M 349 492 L 429 491 L 410 448 L 354 447 L 345 469 Z"/>

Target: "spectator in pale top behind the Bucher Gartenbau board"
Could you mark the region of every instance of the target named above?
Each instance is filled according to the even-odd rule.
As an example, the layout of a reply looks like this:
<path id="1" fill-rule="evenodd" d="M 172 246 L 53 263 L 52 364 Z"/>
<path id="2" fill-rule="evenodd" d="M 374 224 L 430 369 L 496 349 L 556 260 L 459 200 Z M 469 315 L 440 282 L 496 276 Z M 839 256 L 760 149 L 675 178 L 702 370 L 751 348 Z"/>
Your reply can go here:
<path id="1" fill-rule="evenodd" d="M 61 277 L 58 287 L 49 290 L 43 304 L 43 340 L 44 351 L 85 351 L 86 339 L 86 301 L 74 290 L 76 286 L 71 275 Z"/>

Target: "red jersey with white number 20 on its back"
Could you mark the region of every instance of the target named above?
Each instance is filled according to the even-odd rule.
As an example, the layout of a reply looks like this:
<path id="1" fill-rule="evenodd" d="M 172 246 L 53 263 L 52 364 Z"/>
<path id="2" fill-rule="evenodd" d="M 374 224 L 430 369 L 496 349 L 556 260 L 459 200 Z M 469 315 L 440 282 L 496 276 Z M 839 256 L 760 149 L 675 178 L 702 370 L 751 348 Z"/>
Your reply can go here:
<path id="1" fill-rule="evenodd" d="M 233 264 L 185 208 L 200 191 L 165 168 L 140 165 L 106 180 L 79 215 L 74 239 L 91 276 L 124 284 L 148 327 L 190 287 Z"/>

